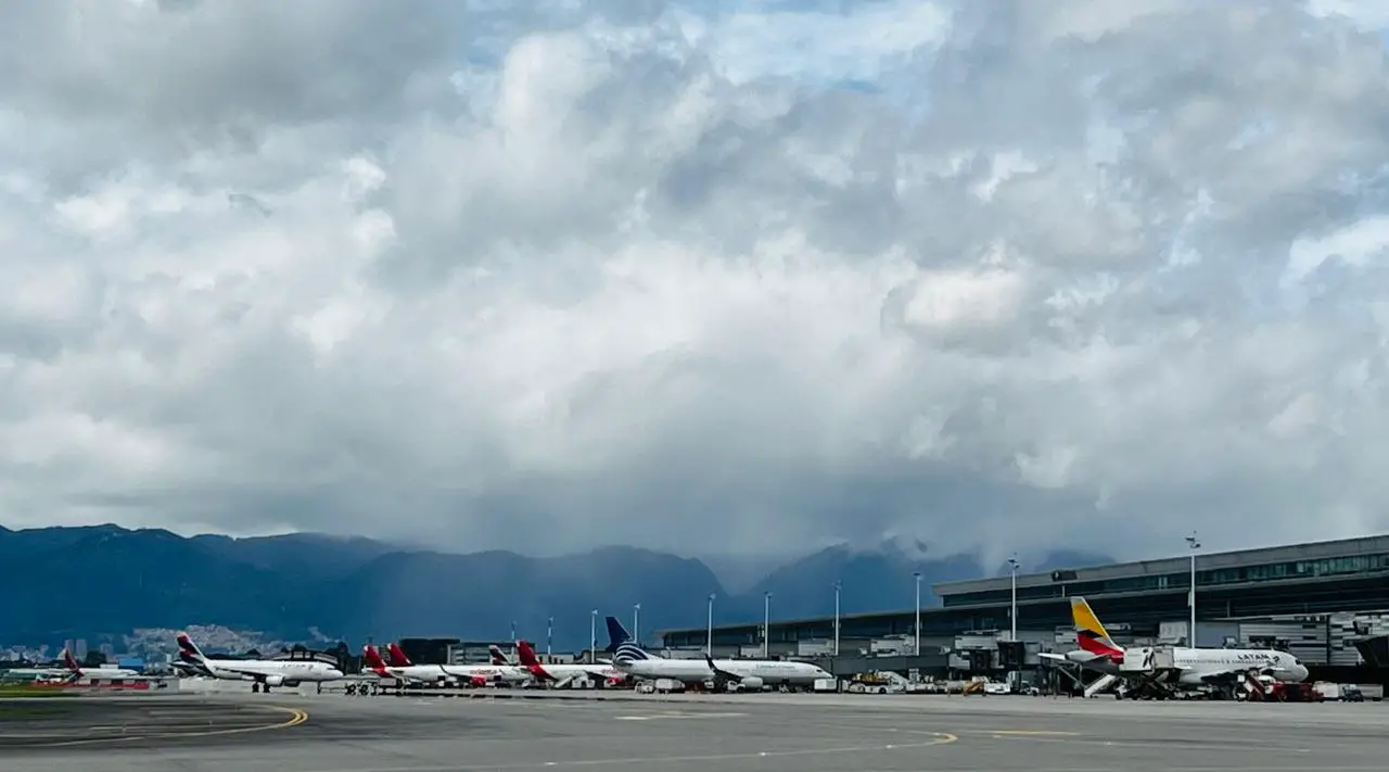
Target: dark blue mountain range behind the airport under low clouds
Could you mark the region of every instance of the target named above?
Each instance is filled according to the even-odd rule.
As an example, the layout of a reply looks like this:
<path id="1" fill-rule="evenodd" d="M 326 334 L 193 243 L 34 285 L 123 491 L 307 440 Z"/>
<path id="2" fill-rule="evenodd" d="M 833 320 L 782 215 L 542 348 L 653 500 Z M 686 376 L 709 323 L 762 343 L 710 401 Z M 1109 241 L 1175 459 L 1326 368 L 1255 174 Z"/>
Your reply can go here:
<path id="1" fill-rule="evenodd" d="M 732 570 L 738 561 L 711 559 Z M 1111 562 L 1060 551 L 1028 570 Z M 63 638 L 114 640 L 142 627 L 221 625 L 283 640 L 324 636 L 440 636 L 499 640 L 519 636 L 554 645 L 589 644 L 590 609 L 624 619 L 642 604 L 642 629 L 701 626 L 717 594 L 715 622 L 761 620 L 764 593 L 774 619 L 911 608 L 913 572 L 931 584 L 997 574 L 971 555 L 931 556 L 921 544 L 875 549 L 831 547 L 786 561 L 749 581 L 746 565 L 729 593 L 704 561 L 635 547 L 603 547 L 557 558 L 486 551 L 467 555 L 407 549 L 358 537 L 289 534 L 182 537 L 119 526 L 0 527 L 6 611 L 0 644 Z M 599 625 L 601 632 L 601 623 Z M 650 634 L 646 636 L 650 640 Z M 94 644 L 93 644 L 94 645 Z"/>

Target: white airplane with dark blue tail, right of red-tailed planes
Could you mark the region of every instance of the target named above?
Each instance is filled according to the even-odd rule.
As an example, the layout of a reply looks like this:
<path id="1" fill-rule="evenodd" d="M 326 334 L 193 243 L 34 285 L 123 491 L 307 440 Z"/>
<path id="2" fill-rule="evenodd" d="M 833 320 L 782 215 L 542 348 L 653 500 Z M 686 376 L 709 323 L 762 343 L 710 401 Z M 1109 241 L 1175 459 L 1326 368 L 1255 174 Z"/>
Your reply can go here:
<path id="1" fill-rule="evenodd" d="M 715 689 L 729 683 L 739 690 L 757 691 L 763 686 L 811 687 L 817 680 L 833 679 L 810 662 L 782 659 L 667 659 L 651 657 L 642 647 L 629 643 L 632 637 L 617 618 L 607 618 L 608 638 L 617 650 L 613 665 L 624 673 L 643 679 L 672 679 L 685 684 L 714 682 Z"/>

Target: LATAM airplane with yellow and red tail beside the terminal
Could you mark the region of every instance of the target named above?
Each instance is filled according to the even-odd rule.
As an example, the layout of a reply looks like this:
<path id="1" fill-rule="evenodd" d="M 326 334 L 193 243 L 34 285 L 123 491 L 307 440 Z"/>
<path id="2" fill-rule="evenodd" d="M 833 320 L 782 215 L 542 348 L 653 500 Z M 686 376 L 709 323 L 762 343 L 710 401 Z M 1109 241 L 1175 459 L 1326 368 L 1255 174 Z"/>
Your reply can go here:
<path id="1" fill-rule="evenodd" d="M 1047 659 L 1067 661 L 1104 675 L 1122 675 L 1125 648 L 1114 643 L 1085 598 L 1071 598 L 1071 619 L 1079 650 L 1067 654 L 1043 654 Z M 1267 648 L 1189 648 L 1172 650 L 1172 672 L 1163 680 L 1179 686 L 1232 683 L 1247 673 L 1271 676 L 1282 682 L 1307 680 L 1307 666 L 1286 651 Z"/>

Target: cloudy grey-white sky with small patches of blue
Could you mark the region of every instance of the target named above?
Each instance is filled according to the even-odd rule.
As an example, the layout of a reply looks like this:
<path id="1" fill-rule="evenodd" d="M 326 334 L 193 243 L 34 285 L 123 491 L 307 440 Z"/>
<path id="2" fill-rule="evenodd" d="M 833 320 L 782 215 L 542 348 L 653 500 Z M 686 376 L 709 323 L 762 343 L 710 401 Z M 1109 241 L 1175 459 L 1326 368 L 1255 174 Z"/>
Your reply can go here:
<path id="1" fill-rule="evenodd" d="M 0 523 L 992 562 L 1386 530 L 1386 26 L 17 6 Z"/>

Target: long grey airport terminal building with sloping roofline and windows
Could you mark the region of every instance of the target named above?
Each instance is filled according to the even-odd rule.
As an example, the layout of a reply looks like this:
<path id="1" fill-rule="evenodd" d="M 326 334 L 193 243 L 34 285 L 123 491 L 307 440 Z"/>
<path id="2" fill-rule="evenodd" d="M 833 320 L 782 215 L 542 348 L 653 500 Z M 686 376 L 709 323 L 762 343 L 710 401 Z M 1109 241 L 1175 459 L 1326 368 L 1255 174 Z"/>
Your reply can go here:
<path id="1" fill-rule="evenodd" d="M 1018 637 L 1032 641 L 1033 650 L 1074 648 L 1074 595 L 1083 595 L 1118 640 L 1185 641 L 1190 591 L 1186 555 L 1018 574 L 1017 583 Z M 914 654 L 907 657 L 914 661 L 908 666 L 943 666 L 949 651 L 960 648 L 960 636 L 1008 630 L 1008 576 L 932 590 L 940 605 L 921 611 L 921 652 L 903 651 L 914 643 L 914 609 L 842 616 L 842 651 L 871 658 L 893 650 Z M 1200 647 L 1274 645 L 1308 662 L 1354 665 L 1358 655 L 1349 638 L 1389 632 L 1389 613 L 1382 620 L 1376 612 L 1389 612 L 1389 536 L 1196 556 L 1195 644 Z M 774 620 L 768 650 L 774 655 L 824 657 L 833 634 L 833 618 Z M 667 648 L 706 644 L 704 627 L 660 636 Z M 761 645 L 760 620 L 714 629 L 721 655 L 754 655 Z"/>

